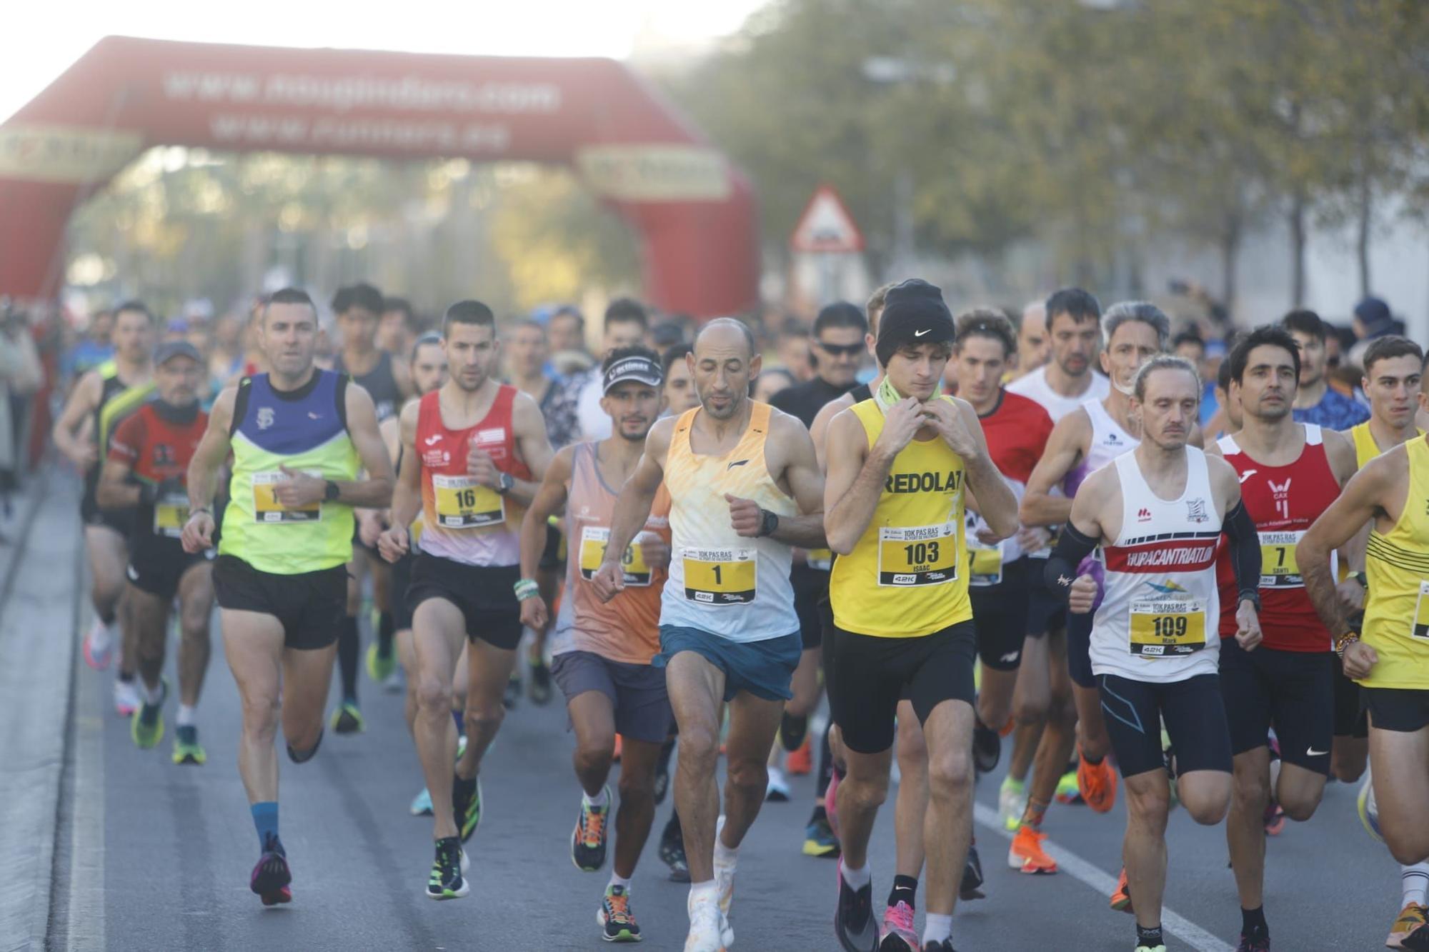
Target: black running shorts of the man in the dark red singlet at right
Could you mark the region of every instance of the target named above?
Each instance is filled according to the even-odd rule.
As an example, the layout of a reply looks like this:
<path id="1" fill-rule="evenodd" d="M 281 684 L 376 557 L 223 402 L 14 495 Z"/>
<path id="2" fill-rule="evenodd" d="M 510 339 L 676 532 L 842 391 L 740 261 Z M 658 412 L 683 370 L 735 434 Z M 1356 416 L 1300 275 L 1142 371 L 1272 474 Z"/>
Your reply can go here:
<path id="1" fill-rule="evenodd" d="M 1220 640 L 1220 695 L 1230 728 L 1230 753 L 1266 746 L 1273 726 L 1286 763 L 1329 776 L 1335 736 L 1332 652 L 1248 652 Z"/>

